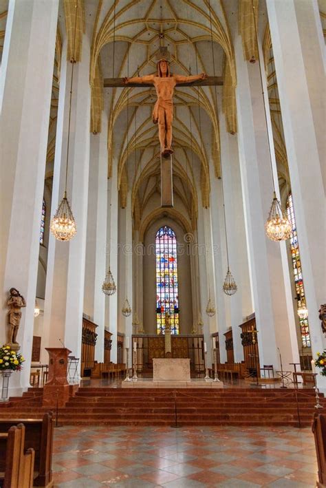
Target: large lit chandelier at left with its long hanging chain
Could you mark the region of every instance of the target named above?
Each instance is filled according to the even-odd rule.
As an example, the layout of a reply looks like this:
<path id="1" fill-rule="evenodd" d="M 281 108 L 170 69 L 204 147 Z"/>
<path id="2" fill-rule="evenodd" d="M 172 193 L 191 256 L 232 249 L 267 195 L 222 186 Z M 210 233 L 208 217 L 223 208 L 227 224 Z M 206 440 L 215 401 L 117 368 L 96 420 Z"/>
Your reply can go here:
<path id="1" fill-rule="evenodd" d="M 59 241 L 69 241 L 76 235 L 76 222 L 74 215 L 72 213 L 71 206 L 67 200 L 67 178 L 68 178 L 68 162 L 69 162 L 69 140 L 70 140 L 70 121 L 72 115 L 72 85 L 74 81 L 74 65 L 76 63 L 75 59 L 75 47 L 76 47 L 76 28 L 77 28 L 77 11 L 78 4 L 76 3 L 76 14 L 75 14 L 75 28 L 74 28 L 74 45 L 72 49 L 72 77 L 70 79 L 70 98 L 69 98 L 69 118 L 68 118 L 68 137 L 67 137 L 67 160 L 65 167 L 65 191 L 63 193 L 63 199 L 56 209 L 56 213 L 51 220 L 50 231 L 54 237 Z"/>

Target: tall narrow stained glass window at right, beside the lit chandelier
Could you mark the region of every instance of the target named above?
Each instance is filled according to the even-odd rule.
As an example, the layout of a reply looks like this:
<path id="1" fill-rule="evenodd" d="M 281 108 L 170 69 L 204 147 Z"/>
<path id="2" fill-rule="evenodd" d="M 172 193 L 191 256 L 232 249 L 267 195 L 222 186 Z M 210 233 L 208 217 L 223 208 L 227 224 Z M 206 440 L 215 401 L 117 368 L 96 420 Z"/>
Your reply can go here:
<path id="1" fill-rule="evenodd" d="M 293 207 L 293 200 L 292 200 L 291 193 L 287 198 L 286 209 L 287 209 L 287 218 L 290 220 L 292 225 L 292 232 L 290 237 L 290 251 L 291 251 L 292 266 L 294 272 L 294 283 L 296 286 L 296 297 L 298 299 L 298 306 L 301 306 L 301 305 L 305 305 L 305 289 L 303 288 L 300 251 L 298 246 L 298 236 L 296 234 L 296 220 L 294 216 L 294 207 Z M 310 344 L 308 319 L 299 319 L 299 321 L 300 321 L 300 328 L 301 328 L 302 345 L 304 348 L 309 348 L 311 344 Z"/>

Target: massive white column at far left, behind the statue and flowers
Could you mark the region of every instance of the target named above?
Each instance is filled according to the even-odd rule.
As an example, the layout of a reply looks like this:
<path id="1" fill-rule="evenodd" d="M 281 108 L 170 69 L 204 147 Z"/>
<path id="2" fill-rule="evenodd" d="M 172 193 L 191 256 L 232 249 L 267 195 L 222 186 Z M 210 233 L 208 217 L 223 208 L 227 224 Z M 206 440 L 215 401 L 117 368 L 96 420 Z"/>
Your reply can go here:
<path id="1" fill-rule="evenodd" d="M 26 361 L 12 376 L 12 394 L 30 384 L 57 19 L 57 0 L 9 2 L 0 76 L 1 344 L 7 341 L 9 288 L 27 301 L 17 338 Z"/>

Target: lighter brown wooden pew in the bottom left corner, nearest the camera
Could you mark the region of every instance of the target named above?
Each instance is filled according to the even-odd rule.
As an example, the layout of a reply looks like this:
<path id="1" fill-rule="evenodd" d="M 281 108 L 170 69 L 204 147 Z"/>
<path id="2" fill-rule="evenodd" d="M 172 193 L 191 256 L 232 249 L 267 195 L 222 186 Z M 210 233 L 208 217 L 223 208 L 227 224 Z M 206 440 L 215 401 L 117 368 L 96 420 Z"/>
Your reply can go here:
<path id="1" fill-rule="evenodd" d="M 3 488 L 32 488 L 34 478 L 34 449 L 24 454 L 25 425 L 12 425 L 8 433 L 0 434 L 0 456 L 6 460 Z M 1 480 L 2 482 L 2 480 Z"/>

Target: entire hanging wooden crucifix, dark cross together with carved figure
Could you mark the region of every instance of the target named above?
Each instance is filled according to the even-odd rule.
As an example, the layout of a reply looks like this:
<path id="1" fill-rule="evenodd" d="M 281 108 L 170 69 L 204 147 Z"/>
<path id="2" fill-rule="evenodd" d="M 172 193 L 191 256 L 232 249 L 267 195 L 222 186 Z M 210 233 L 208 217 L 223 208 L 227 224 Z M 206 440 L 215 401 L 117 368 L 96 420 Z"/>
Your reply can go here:
<path id="1" fill-rule="evenodd" d="M 207 76 L 201 73 L 194 76 L 171 74 L 169 67 L 169 52 L 166 47 L 160 47 L 157 55 L 157 72 L 147 76 L 134 78 L 106 78 L 105 87 L 155 87 L 157 100 L 153 109 L 153 123 L 158 123 L 158 137 L 161 154 L 161 206 L 173 206 L 172 182 L 172 121 L 173 121 L 173 93 L 175 86 L 204 86 L 222 85 L 218 76 Z"/>

